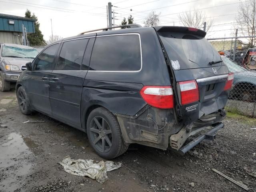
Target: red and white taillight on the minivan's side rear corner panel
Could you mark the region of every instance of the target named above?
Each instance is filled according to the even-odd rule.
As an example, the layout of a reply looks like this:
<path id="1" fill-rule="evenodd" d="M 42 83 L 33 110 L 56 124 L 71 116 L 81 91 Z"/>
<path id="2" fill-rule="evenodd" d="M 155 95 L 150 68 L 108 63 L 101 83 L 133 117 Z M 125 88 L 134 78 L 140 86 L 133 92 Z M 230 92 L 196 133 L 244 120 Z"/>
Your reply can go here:
<path id="1" fill-rule="evenodd" d="M 144 86 L 140 90 L 142 98 L 151 106 L 161 109 L 173 108 L 171 86 Z"/>

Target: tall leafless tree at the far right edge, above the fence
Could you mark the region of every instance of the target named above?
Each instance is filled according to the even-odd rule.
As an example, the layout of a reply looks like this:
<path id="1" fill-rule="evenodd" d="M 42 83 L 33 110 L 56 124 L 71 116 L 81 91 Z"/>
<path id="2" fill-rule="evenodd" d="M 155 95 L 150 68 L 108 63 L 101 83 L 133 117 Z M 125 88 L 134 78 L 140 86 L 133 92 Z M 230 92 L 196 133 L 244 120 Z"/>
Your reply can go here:
<path id="1" fill-rule="evenodd" d="M 243 36 L 256 35 L 256 0 L 248 0 L 241 2 L 238 8 L 238 16 L 236 17 L 235 28 L 242 33 Z M 256 38 L 248 38 L 248 48 L 256 46 Z"/>

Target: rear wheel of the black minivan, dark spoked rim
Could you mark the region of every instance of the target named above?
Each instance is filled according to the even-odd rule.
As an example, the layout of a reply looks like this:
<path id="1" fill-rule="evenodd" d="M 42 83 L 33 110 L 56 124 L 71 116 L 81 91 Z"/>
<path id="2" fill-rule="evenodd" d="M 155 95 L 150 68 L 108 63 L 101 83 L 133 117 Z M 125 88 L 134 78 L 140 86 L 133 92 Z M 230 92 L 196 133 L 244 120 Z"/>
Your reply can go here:
<path id="1" fill-rule="evenodd" d="M 86 129 L 91 146 L 102 158 L 115 158 L 128 149 L 116 118 L 105 108 L 96 108 L 89 114 Z"/>

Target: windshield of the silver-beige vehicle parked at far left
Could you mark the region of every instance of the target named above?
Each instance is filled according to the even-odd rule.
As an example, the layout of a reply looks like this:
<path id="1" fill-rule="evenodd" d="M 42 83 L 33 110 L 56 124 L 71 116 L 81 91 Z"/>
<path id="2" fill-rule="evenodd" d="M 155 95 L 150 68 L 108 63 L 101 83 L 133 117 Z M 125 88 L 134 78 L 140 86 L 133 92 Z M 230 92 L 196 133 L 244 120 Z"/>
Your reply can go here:
<path id="1" fill-rule="evenodd" d="M 19 48 L 12 46 L 3 46 L 3 57 L 17 57 L 17 58 L 35 58 L 38 51 L 34 48 Z"/>

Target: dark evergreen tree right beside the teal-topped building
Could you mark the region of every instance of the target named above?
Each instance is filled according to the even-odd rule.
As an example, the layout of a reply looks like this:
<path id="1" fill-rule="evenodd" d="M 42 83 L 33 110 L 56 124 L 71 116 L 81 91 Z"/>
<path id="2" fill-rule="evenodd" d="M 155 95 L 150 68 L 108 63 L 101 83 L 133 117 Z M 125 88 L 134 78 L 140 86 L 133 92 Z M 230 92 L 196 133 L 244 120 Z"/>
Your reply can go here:
<path id="1" fill-rule="evenodd" d="M 35 16 L 34 13 L 31 15 L 31 11 L 28 9 L 25 12 L 25 17 L 36 20 L 34 23 L 35 33 L 27 34 L 30 46 L 44 46 L 46 42 L 44 40 L 44 35 L 39 29 L 40 24 L 38 23 L 37 17 Z"/>

